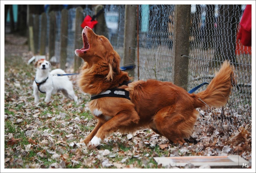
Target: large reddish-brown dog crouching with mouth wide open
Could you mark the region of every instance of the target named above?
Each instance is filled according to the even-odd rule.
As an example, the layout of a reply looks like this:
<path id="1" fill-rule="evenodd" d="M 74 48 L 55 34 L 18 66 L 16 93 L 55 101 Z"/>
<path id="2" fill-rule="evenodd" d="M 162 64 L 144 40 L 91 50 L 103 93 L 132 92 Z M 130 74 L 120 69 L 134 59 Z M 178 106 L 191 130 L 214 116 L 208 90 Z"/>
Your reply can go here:
<path id="1" fill-rule="evenodd" d="M 196 108 L 225 105 L 235 81 L 230 63 L 224 62 L 207 89 L 197 94 L 157 80 L 139 80 L 126 85 L 124 82 L 130 78 L 120 71 L 120 56 L 108 39 L 96 35 L 88 26 L 82 31 L 82 38 L 84 47 L 75 51 L 84 60 L 78 79 L 80 88 L 93 96 L 104 95 L 113 88 L 129 91 L 128 98 L 108 96 L 90 101 L 90 111 L 98 123 L 84 139 L 86 144 L 91 141 L 97 146 L 109 133 L 139 128 L 151 128 L 170 141 L 183 144 L 198 118 Z"/>

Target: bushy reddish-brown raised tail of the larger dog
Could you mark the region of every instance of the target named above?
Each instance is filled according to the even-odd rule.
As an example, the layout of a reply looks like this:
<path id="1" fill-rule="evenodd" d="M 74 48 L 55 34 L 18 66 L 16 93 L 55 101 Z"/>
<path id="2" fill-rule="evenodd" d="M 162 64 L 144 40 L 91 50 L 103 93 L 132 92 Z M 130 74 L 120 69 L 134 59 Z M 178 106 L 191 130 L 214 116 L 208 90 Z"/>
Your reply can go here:
<path id="1" fill-rule="evenodd" d="M 224 106 L 234 84 L 236 84 L 236 80 L 233 68 L 228 61 L 225 61 L 206 90 L 196 94 L 195 107 Z"/>

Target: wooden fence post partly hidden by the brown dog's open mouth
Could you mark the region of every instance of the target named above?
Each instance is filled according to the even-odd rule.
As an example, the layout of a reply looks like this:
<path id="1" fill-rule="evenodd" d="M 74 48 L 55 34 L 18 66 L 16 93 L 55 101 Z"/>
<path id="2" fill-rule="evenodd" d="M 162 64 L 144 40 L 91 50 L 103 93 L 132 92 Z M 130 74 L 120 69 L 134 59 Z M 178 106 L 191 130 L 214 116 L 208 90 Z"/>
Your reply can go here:
<path id="1" fill-rule="evenodd" d="M 75 49 L 80 49 L 83 47 L 83 42 L 81 39 L 82 35 L 82 30 L 83 28 L 81 27 L 81 24 L 84 20 L 84 15 L 83 15 L 83 9 L 82 7 L 76 8 L 76 24 L 75 24 Z M 82 58 L 74 55 L 74 72 L 79 70 L 79 67 L 81 66 L 81 61 Z"/>

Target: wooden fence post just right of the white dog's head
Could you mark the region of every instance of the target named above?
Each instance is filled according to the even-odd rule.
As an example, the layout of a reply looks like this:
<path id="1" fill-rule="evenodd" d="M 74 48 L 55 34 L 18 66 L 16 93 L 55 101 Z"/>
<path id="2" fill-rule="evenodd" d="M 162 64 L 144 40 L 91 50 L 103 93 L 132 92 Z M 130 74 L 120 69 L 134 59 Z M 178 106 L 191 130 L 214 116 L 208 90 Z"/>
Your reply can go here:
<path id="1" fill-rule="evenodd" d="M 55 54 L 55 35 L 56 35 L 56 16 L 55 12 L 51 11 L 49 13 L 49 40 L 48 40 L 48 50 L 49 50 L 49 61 Z"/>

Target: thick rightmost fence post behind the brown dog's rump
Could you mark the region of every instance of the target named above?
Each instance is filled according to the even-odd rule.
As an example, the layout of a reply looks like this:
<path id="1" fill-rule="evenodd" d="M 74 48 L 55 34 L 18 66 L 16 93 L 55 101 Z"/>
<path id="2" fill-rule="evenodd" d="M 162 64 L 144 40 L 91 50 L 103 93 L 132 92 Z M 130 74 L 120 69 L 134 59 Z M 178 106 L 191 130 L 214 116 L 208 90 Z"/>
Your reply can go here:
<path id="1" fill-rule="evenodd" d="M 175 5 L 172 82 L 187 90 L 191 5 Z M 185 56 L 183 56 L 185 55 Z"/>

